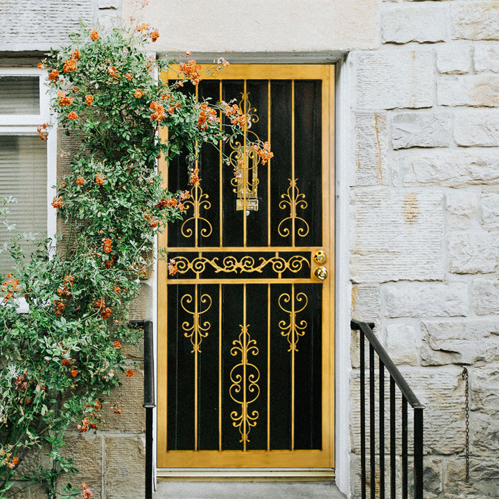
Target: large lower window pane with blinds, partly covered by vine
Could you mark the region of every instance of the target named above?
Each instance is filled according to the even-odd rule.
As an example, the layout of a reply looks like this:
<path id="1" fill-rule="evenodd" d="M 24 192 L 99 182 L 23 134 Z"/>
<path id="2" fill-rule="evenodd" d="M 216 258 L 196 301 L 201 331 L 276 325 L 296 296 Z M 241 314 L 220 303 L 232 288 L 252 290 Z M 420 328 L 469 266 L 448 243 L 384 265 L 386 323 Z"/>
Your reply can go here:
<path id="1" fill-rule="evenodd" d="M 0 198 L 17 198 L 8 205 L 9 222 L 15 224 L 15 233 L 37 233 L 37 240 L 46 238 L 46 142 L 39 137 L 0 136 Z M 0 244 L 12 234 L 3 220 L 0 223 Z M 34 245 L 24 245 L 30 252 Z M 9 255 L 0 254 L 0 276 L 10 272 Z"/>

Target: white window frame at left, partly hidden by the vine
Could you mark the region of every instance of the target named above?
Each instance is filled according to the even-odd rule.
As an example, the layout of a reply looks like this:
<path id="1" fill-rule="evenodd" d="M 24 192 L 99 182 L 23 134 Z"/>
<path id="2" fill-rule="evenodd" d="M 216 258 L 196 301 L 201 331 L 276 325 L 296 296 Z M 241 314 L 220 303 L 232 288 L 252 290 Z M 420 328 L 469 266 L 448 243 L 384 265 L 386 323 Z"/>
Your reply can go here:
<path id="1" fill-rule="evenodd" d="M 37 126 L 47 123 L 49 132 L 46 141 L 46 207 L 47 207 L 47 237 L 53 240 L 55 247 L 55 234 L 57 233 L 57 212 L 51 202 L 57 191 L 57 122 L 50 114 L 49 89 L 46 87 L 47 72 L 36 68 L 0 68 L 2 76 L 36 76 L 40 89 L 40 110 L 38 114 L 0 114 L 0 135 L 33 136 L 37 137 Z M 17 311 L 26 313 L 28 304 L 24 298 L 19 299 Z"/>

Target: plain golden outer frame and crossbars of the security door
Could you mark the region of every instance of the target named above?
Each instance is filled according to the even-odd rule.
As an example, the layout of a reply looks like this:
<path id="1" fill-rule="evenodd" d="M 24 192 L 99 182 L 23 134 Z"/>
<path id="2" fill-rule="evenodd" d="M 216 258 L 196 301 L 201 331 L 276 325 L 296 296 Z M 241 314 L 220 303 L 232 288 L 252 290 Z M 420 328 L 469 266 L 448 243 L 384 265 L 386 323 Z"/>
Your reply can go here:
<path id="1" fill-rule="evenodd" d="M 207 69 L 208 66 L 203 67 Z M 322 449 L 321 450 L 168 450 L 167 448 L 167 286 L 168 263 L 158 263 L 158 386 L 157 390 L 157 467 L 159 469 L 191 469 L 191 468 L 249 468 L 249 469 L 333 469 L 334 462 L 334 65 L 327 64 L 232 64 L 229 69 L 214 71 L 212 75 L 204 75 L 203 79 L 212 80 L 322 80 L 322 247 L 292 247 L 300 252 L 323 251 L 328 257 L 326 263 L 329 277 L 323 281 L 322 306 Z M 161 73 L 161 79 L 175 79 L 177 73 L 170 70 Z M 160 134 L 167 137 L 167 131 Z M 272 137 L 270 137 L 272 142 Z M 294 150 L 292 152 L 294 161 Z M 220 175 L 222 163 L 220 161 Z M 159 160 L 159 170 L 168 182 L 168 167 L 164 157 Z M 269 173 L 270 175 L 270 173 Z M 220 216 L 221 218 L 221 216 Z M 222 231 L 220 231 L 220 234 Z M 159 247 L 166 247 L 166 232 L 159 236 Z M 269 245 L 270 246 L 270 245 Z M 198 248 L 189 247 L 189 251 Z M 252 251 L 269 250 L 279 252 L 291 247 L 248 247 Z M 172 248 L 181 251 L 182 248 Z M 199 247 L 200 252 L 210 250 L 227 252 L 240 250 L 240 247 Z M 168 251 L 170 248 L 168 248 Z M 315 271 L 322 265 L 311 260 L 310 279 L 295 279 L 293 283 L 320 282 Z M 182 279 L 182 283 L 198 283 L 197 279 Z M 203 283 L 218 283 L 218 280 L 203 279 Z M 246 279 L 231 279 L 231 283 L 247 283 Z M 272 283 L 279 279 L 251 279 L 251 283 Z M 178 283 L 178 281 L 177 281 Z"/>

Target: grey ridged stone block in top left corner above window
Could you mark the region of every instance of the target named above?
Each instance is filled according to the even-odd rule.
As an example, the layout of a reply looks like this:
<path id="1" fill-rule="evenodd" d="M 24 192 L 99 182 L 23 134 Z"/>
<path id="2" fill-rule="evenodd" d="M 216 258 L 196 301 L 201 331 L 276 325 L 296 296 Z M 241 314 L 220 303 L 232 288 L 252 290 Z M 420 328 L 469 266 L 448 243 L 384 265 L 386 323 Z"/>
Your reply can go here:
<path id="1" fill-rule="evenodd" d="M 2 51 L 48 51 L 67 45 L 69 33 L 91 24 L 94 0 L 2 0 Z"/>

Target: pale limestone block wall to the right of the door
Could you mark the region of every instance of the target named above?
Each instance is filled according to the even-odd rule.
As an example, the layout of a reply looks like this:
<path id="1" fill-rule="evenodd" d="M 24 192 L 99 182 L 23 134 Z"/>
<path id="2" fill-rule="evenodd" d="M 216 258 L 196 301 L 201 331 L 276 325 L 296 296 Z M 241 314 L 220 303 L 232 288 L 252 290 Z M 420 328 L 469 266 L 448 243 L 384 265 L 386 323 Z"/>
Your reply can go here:
<path id="1" fill-rule="evenodd" d="M 379 40 L 347 58 L 352 315 L 428 407 L 425 497 L 497 497 L 499 3 L 380 1 Z M 353 497 L 359 454 L 352 437 Z"/>

